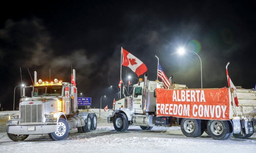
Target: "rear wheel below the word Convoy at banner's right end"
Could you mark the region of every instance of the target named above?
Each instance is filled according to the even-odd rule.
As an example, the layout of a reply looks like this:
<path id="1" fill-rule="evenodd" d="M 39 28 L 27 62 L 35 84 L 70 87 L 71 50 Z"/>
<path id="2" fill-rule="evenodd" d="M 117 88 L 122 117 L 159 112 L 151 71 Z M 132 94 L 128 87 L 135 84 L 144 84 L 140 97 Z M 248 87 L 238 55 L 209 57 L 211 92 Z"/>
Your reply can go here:
<path id="1" fill-rule="evenodd" d="M 231 136 L 228 121 L 209 120 L 207 131 L 215 140 L 225 140 Z"/>

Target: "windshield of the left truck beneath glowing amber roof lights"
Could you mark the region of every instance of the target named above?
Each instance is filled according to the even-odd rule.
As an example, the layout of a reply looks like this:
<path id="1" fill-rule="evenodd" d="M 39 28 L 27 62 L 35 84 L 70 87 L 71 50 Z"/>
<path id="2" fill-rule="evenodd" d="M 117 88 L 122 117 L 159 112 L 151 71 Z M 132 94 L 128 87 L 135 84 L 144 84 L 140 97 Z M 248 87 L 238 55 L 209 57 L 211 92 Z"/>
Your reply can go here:
<path id="1" fill-rule="evenodd" d="M 33 90 L 33 96 L 61 96 L 62 86 L 36 86 Z"/>

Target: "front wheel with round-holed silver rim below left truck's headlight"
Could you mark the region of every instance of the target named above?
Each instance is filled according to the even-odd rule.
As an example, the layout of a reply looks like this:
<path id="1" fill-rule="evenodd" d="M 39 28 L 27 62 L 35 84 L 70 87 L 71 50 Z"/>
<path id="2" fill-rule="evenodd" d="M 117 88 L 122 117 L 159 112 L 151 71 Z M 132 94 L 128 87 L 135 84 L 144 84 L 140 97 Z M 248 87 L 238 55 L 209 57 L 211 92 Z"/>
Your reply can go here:
<path id="1" fill-rule="evenodd" d="M 54 141 L 60 141 L 67 138 L 69 134 L 69 124 L 67 120 L 59 118 L 57 125 L 57 131 L 49 133 L 49 137 Z"/>

